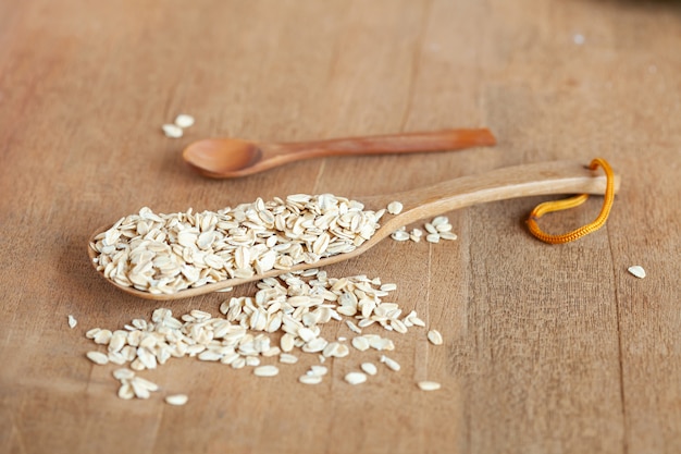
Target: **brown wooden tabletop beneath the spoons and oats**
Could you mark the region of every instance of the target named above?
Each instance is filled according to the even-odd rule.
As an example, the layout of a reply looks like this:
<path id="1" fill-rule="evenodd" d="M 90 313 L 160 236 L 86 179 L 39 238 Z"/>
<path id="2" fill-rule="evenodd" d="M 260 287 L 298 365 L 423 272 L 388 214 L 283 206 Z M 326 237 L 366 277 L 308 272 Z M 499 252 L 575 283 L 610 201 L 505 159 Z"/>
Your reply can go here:
<path id="1" fill-rule="evenodd" d="M 0 452 L 679 452 L 680 44 L 671 1 L 0 2 Z M 196 124 L 166 138 L 160 126 L 181 112 Z M 498 145 L 231 181 L 181 158 L 208 136 L 476 126 Z M 443 346 L 423 329 L 384 333 L 399 372 L 351 386 L 344 375 L 377 357 L 352 351 L 304 385 L 313 355 L 271 379 L 183 358 L 144 372 L 162 388 L 151 398 L 123 401 L 115 366 L 85 357 L 90 328 L 121 329 L 161 306 L 218 316 L 230 297 L 161 304 L 97 275 L 90 232 L 144 206 L 361 197 L 596 156 L 622 188 L 606 228 L 574 243 L 528 233 L 523 220 L 547 198 L 531 197 L 447 213 L 456 242 L 385 241 L 327 268 L 396 283 L 394 299 L 443 333 Z M 600 204 L 542 226 L 584 224 Z M 324 330 L 349 336 L 339 323 Z M 420 391 L 424 379 L 442 390 Z M 189 402 L 165 404 L 174 392 Z"/>

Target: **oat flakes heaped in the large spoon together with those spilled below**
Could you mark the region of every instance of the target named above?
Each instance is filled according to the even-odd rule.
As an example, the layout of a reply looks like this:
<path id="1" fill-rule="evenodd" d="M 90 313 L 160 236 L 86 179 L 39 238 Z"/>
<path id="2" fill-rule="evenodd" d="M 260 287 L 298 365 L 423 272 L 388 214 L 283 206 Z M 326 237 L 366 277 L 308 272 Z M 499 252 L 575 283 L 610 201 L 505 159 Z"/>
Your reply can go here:
<path id="1" fill-rule="evenodd" d="M 395 349 L 388 333 L 405 334 L 425 322 L 416 311 L 403 314 L 388 297 L 397 285 L 366 275 L 331 278 L 325 271 L 288 271 L 294 265 L 314 263 L 322 257 L 354 250 L 371 238 L 387 211 L 398 214 L 401 204 L 364 210 L 361 203 L 331 194 L 293 195 L 271 201 L 257 199 L 218 212 L 157 214 L 143 208 L 119 220 L 95 238 L 96 266 L 117 284 L 150 293 L 175 293 L 235 277 L 252 277 L 278 269 L 278 278 L 257 283 L 253 296 L 235 296 L 220 305 L 220 316 L 191 310 L 176 317 L 170 309 L 153 310 L 150 320 L 135 319 L 119 330 L 95 328 L 86 336 L 104 351 L 91 351 L 95 364 L 122 366 L 113 371 L 121 398 L 148 398 L 161 388 L 139 376 L 171 358 L 190 357 L 234 369 L 251 368 L 253 376 L 274 377 L 300 355 L 315 355 L 319 364 L 299 377 L 304 384 L 319 384 L 327 372 L 324 363 L 351 351 L 376 351 L 376 361 L 399 371 L 387 354 Z M 446 217 L 424 225 L 425 240 L 456 240 Z M 420 229 L 395 232 L 396 241 L 419 242 Z M 343 322 L 351 339 L 327 339 L 322 328 Z M 70 326 L 75 327 L 70 317 Z M 369 333 L 373 330 L 382 332 Z M 391 334 L 392 335 L 392 334 Z M 424 336 L 442 345 L 437 330 Z M 265 364 L 267 363 L 267 364 Z M 127 366 L 127 367 L 123 367 Z M 381 367 L 381 366 L 380 366 Z M 345 376 L 350 384 L 366 382 L 379 368 L 364 361 Z M 435 381 L 420 381 L 424 391 L 439 389 Z M 172 405 L 184 405 L 185 394 L 166 395 Z"/>

